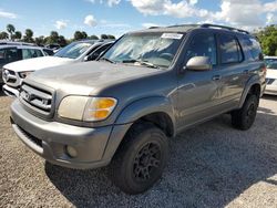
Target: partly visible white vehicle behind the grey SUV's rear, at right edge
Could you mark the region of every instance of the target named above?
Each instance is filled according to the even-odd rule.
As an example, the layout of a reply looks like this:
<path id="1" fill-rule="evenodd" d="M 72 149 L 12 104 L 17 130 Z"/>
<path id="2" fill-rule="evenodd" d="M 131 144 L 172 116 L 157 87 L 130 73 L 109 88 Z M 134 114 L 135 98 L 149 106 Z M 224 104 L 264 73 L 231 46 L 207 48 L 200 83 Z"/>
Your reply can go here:
<path id="1" fill-rule="evenodd" d="M 265 94 L 277 95 L 277 59 L 267 62 L 266 91 Z"/>

